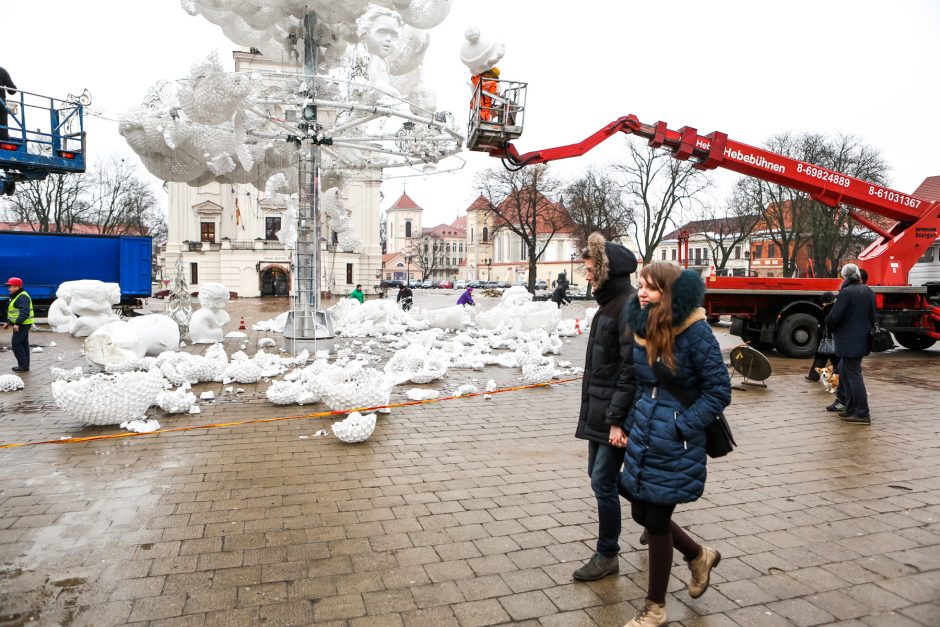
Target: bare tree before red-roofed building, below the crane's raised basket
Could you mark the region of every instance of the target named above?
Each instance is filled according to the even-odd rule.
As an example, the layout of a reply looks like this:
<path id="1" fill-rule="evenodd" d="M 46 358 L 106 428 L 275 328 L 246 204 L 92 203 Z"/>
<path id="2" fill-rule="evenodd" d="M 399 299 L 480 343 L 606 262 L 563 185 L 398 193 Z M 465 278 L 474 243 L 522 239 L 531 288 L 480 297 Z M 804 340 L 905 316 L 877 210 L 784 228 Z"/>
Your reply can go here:
<path id="1" fill-rule="evenodd" d="M 528 289 L 534 293 L 538 260 L 555 234 L 571 225 L 564 207 L 549 199 L 560 184 L 544 164 L 487 170 L 477 181 L 492 207 L 493 232 L 509 231 L 522 240 L 529 264 Z"/>

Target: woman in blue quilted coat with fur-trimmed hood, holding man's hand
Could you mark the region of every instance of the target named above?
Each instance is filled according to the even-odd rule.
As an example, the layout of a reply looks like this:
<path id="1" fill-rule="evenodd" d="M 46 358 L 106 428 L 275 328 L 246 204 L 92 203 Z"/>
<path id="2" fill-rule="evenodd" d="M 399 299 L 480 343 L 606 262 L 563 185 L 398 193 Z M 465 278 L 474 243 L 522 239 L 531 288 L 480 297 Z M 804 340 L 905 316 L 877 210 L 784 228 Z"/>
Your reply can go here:
<path id="1" fill-rule="evenodd" d="M 693 599 L 708 589 L 711 570 L 721 560 L 718 551 L 699 545 L 672 521 L 677 504 L 695 501 L 705 489 L 705 428 L 731 402 L 721 349 L 699 307 L 704 293 L 696 273 L 655 262 L 643 266 L 639 289 L 627 306 L 636 334 L 636 400 L 624 428 L 621 483 L 633 519 L 649 533 L 650 564 L 646 605 L 629 627 L 666 624 L 673 548 L 689 565 Z M 691 404 L 685 407 L 666 392 L 655 372 L 684 391 Z"/>

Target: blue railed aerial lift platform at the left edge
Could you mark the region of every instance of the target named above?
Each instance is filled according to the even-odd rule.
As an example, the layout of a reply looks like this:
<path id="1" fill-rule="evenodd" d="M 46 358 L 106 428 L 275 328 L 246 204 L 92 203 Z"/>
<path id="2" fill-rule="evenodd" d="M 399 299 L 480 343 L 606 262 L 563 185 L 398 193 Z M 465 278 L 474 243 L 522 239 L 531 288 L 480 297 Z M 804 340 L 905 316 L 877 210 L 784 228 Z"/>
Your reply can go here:
<path id="1" fill-rule="evenodd" d="M 3 98 L 7 124 L 0 126 L 0 195 L 12 196 L 17 181 L 85 171 L 84 107 L 19 91 Z"/>

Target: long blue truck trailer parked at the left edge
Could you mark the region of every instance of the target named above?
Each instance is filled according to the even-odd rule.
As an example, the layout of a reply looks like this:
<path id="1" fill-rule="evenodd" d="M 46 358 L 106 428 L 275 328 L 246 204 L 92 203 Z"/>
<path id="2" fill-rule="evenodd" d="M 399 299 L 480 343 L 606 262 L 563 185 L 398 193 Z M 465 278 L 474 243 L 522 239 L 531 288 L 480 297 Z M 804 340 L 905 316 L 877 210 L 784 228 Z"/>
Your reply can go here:
<path id="1" fill-rule="evenodd" d="M 66 281 L 98 279 L 121 286 L 123 313 L 149 298 L 153 243 L 150 237 L 0 231 L 0 281 L 23 279 L 37 316 L 45 316 Z M 9 295 L 0 294 L 6 319 Z"/>

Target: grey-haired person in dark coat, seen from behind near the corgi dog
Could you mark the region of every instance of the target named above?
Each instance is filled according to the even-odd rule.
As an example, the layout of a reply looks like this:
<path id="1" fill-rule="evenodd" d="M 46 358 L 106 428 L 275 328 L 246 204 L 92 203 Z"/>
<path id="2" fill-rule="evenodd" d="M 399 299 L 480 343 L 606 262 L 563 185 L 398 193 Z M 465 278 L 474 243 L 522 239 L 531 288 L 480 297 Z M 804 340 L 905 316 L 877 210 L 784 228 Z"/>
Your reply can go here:
<path id="1" fill-rule="evenodd" d="M 862 378 L 862 357 L 871 352 L 871 329 L 875 326 L 875 294 L 862 283 L 862 275 L 854 263 L 842 268 L 842 288 L 836 304 L 826 316 L 826 326 L 836 338 L 839 356 L 839 383 L 845 386 L 845 410 L 839 413 L 843 422 L 871 424 L 868 392 Z"/>

